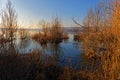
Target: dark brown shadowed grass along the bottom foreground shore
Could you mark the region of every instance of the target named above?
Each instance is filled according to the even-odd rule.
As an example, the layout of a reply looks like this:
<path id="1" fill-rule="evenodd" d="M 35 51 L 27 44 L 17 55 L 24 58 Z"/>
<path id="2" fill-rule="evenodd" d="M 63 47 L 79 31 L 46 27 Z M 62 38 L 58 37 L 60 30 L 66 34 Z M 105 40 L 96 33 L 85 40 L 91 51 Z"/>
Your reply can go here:
<path id="1" fill-rule="evenodd" d="M 99 76 L 99 75 L 98 75 Z M 94 73 L 61 66 L 39 51 L 0 56 L 1 80 L 94 80 Z"/>

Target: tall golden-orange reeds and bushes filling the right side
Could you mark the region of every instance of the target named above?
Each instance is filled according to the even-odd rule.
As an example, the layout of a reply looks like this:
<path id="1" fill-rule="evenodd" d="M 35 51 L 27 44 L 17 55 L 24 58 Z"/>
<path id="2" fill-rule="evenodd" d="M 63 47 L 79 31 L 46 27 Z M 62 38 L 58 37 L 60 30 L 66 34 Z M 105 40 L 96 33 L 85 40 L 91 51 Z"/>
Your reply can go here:
<path id="1" fill-rule="evenodd" d="M 116 80 L 120 75 L 119 5 L 118 0 L 110 0 L 90 10 L 85 19 L 80 35 L 84 35 L 83 71 L 92 74 L 93 80 Z"/>

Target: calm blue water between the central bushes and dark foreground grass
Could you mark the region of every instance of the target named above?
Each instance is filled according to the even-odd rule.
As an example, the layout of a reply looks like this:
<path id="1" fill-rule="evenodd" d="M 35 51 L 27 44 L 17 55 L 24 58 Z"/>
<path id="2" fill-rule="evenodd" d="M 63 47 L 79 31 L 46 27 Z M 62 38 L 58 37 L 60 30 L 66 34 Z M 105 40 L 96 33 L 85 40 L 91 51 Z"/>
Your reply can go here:
<path id="1" fill-rule="evenodd" d="M 34 50 L 39 50 L 43 54 L 56 56 L 64 65 L 68 61 L 74 64 L 80 60 L 81 43 L 73 40 L 73 34 L 69 34 L 69 39 L 62 41 L 60 44 L 40 45 L 39 42 L 30 38 L 25 40 L 17 40 L 16 48 L 22 54 L 30 53 Z"/>

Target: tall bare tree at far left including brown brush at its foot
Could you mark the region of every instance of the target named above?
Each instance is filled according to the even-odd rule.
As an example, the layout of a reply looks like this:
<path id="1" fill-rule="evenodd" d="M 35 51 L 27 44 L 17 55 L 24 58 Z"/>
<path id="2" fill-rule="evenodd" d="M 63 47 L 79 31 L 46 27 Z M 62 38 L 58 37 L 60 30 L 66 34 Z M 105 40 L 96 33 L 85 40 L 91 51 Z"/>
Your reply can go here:
<path id="1" fill-rule="evenodd" d="M 17 14 L 10 1 L 8 1 L 6 5 L 6 9 L 2 13 L 1 26 L 2 28 L 4 28 L 3 30 L 1 30 L 1 38 L 0 38 L 1 51 L 3 51 L 1 53 L 5 53 L 7 51 L 10 52 L 11 54 L 12 53 L 11 51 L 15 51 L 14 40 L 16 37 L 18 22 L 17 22 Z M 6 43 L 9 43 L 9 45 L 7 45 Z"/>

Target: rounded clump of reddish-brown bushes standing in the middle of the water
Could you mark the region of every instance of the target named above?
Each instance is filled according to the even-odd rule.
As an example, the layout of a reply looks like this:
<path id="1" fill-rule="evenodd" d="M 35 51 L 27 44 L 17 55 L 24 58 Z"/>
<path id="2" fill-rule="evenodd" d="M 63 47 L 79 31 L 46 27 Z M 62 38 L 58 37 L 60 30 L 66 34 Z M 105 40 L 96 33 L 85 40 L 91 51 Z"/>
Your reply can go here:
<path id="1" fill-rule="evenodd" d="M 68 34 L 64 32 L 62 23 L 58 17 L 54 18 L 50 24 L 43 22 L 41 26 L 42 32 L 32 36 L 33 39 L 38 40 L 41 44 L 57 44 L 62 42 L 63 39 L 69 38 Z"/>

